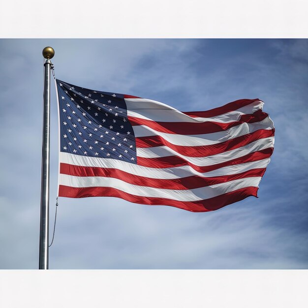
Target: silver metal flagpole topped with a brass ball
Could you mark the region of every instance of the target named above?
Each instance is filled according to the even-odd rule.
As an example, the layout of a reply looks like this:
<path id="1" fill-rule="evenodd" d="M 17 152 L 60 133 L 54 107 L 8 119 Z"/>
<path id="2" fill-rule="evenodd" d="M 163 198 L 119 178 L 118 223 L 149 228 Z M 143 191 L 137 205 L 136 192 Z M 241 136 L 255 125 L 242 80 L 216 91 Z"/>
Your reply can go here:
<path id="1" fill-rule="evenodd" d="M 50 147 L 50 69 L 55 51 L 51 47 L 43 49 L 44 64 L 44 111 L 42 140 L 41 216 L 39 234 L 39 269 L 48 270 L 49 236 L 49 147 Z"/>

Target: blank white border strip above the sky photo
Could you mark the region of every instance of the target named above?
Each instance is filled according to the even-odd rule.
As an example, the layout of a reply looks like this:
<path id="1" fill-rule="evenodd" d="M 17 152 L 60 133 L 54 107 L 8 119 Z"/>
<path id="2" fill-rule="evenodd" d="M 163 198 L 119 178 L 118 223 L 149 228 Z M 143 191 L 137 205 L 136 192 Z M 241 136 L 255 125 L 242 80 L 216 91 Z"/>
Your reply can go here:
<path id="1" fill-rule="evenodd" d="M 2 1 L 6 38 L 306 38 L 306 0 Z"/>

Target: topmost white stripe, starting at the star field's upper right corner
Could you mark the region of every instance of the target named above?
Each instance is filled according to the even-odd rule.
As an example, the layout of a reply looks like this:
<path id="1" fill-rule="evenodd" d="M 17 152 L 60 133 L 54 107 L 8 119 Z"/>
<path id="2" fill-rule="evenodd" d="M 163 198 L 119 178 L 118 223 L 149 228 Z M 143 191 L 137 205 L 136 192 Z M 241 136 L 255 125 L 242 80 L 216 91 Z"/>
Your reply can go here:
<path id="1" fill-rule="evenodd" d="M 252 114 L 263 108 L 264 103 L 260 100 L 253 101 L 249 105 L 210 118 L 193 118 L 166 104 L 144 98 L 125 98 L 127 115 L 135 118 L 155 122 L 219 122 L 229 123 L 240 120 L 243 114 Z"/>

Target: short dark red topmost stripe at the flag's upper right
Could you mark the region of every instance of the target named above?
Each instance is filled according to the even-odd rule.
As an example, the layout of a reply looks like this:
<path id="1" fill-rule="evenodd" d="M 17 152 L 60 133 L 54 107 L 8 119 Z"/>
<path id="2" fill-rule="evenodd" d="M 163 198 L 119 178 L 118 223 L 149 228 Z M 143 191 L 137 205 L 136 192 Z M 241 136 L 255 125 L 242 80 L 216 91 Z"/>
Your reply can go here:
<path id="1" fill-rule="evenodd" d="M 256 100 L 260 100 L 259 98 L 255 98 L 255 99 L 239 99 L 239 100 L 235 100 L 231 103 L 228 103 L 224 106 L 221 107 L 217 107 L 211 110 L 207 110 L 207 111 L 189 111 L 189 112 L 183 112 L 185 115 L 188 115 L 192 118 L 211 118 L 211 117 L 216 117 L 219 115 L 222 115 L 224 113 L 227 112 L 231 112 L 237 109 L 240 109 L 242 107 L 245 107 L 251 103 L 253 103 Z"/>

